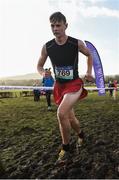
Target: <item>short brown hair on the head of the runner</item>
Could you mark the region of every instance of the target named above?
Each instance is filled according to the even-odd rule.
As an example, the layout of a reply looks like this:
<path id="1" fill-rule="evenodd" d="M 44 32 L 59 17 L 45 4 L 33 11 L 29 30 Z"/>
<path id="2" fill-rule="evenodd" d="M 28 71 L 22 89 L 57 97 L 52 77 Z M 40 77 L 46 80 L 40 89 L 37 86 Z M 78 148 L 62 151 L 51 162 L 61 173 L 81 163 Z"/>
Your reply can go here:
<path id="1" fill-rule="evenodd" d="M 50 16 L 50 22 L 61 22 L 66 23 L 66 17 L 61 12 L 55 12 Z"/>

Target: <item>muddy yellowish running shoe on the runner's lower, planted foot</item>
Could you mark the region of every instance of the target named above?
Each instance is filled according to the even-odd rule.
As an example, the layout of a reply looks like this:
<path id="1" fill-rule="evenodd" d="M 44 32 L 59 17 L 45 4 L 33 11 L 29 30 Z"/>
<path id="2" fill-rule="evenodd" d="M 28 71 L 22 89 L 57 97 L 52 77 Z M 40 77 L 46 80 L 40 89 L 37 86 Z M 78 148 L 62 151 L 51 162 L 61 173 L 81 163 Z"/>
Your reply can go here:
<path id="1" fill-rule="evenodd" d="M 70 154 L 69 151 L 65 151 L 65 150 L 61 149 L 58 160 L 56 161 L 56 165 L 66 164 L 70 157 L 69 154 Z"/>

